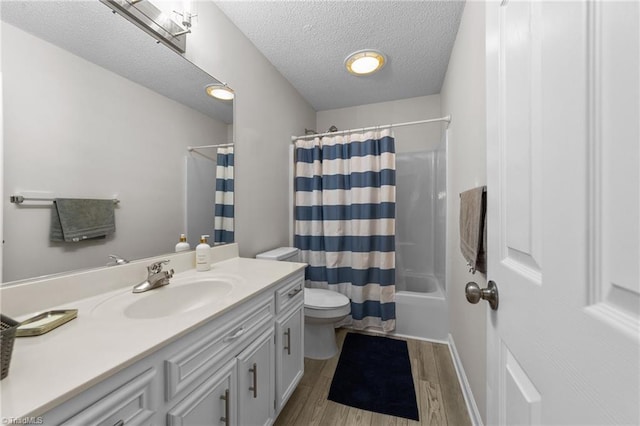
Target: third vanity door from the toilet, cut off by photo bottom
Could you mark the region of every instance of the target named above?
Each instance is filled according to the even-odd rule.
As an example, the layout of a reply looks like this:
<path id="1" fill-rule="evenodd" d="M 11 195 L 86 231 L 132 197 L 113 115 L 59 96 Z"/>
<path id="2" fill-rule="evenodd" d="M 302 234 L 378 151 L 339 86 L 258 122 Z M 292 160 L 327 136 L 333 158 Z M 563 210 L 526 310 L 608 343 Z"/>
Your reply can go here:
<path id="1" fill-rule="evenodd" d="M 237 425 L 236 361 L 229 361 L 167 413 L 168 426 Z"/>

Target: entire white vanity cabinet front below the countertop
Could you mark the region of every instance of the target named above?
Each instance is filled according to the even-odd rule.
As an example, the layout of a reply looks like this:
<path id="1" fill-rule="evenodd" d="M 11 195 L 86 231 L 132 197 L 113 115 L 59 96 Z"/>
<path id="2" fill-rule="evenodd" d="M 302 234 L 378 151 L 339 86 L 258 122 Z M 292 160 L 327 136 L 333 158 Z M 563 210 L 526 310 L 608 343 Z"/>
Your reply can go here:
<path id="1" fill-rule="evenodd" d="M 299 271 L 44 413 L 43 424 L 271 425 L 303 373 L 302 288 Z"/>

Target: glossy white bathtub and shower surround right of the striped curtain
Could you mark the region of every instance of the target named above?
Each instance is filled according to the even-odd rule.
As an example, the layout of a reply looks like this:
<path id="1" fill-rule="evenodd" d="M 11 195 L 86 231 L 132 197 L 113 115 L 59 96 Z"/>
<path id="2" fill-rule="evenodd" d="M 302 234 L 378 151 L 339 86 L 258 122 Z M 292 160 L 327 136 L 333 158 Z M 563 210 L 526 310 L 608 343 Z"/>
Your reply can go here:
<path id="1" fill-rule="evenodd" d="M 395 334 L 435 342 L 446 342 L 449 333 L 445 148 L 442 140 L 435 151 L 397 155 Z"/>

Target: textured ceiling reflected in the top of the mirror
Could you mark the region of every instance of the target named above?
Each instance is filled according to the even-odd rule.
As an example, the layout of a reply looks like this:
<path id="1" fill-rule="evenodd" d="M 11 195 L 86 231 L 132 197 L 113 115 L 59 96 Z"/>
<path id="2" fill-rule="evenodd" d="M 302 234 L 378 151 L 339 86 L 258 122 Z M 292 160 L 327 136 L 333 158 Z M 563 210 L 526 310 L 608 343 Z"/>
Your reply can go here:
<path id="1" fill-rule="evenodd" d="M 225 123 L 230 102 L 205 94 L 219 83 L 98 0 L 2 1 L 2 20 Z"/>

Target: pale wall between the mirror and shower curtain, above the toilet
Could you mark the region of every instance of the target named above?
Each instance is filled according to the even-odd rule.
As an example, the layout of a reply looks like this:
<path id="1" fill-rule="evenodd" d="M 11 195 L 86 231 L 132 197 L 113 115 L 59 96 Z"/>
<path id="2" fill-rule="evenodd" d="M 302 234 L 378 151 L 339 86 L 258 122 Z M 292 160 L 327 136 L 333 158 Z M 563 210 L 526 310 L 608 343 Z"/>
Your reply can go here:
<path id="1" fill-rule="evenodd" d="M 253 257 L 289 244 L 288 149 L 316 114 L 213 2 L 196 8 L 186 57 L 236 92 L 235 236 Z"/>

